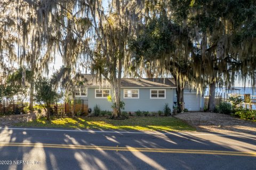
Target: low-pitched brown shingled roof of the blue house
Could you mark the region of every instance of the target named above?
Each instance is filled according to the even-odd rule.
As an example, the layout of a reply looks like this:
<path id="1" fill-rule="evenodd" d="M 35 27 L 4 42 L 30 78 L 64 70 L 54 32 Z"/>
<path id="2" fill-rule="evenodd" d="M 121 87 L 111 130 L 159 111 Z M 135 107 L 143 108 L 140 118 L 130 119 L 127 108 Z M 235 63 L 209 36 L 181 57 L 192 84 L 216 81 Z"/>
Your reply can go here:
<path id="1" fill-rule="evenodd" d="M 87 86 L 100 86 L 100 81 L 93 77 L 92 74 L 84 74 L 87 79 Z M 106 79 L 103 79 L 101 86 L 110 86 Z M 122 78 L 121 87 L 173 87 L 175 81 L 173 78 Z"/>

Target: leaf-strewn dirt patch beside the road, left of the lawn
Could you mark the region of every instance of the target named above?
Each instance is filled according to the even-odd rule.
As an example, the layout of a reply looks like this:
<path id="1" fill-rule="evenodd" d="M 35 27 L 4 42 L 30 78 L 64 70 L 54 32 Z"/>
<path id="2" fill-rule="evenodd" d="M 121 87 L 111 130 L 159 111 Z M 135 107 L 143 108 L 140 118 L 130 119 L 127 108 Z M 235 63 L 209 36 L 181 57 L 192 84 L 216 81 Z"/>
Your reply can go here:
<path id="1" fill-rule="evenodd" d="M 38 117 L 44 116 L 44 113 L 38 114 L 37 111 L 30 112 L 28 114 L 21 115 L 5 115 L 0 116 L 0 127 L 4 126 L 12 126 L 15 123 L 29 122 L 32 120 L 36 120 Z"/>

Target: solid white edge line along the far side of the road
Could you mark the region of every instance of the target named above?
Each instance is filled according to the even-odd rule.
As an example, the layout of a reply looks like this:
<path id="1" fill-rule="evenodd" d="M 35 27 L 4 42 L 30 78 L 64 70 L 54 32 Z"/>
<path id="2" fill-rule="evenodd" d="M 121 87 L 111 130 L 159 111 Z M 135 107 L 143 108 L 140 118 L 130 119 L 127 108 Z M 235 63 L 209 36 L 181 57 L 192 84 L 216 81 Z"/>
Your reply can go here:
<path id="1" fill-rule="evenodd" d="M 241 135 L 241 134 L 211 134 L 211 133 L 180 133 L 180 132 L 129 132 L 129 131 L 94 131 L 94 130 L 67 130 L 67 129 L 35 129 L 35 128 L 1 128 L 0 130 L 35 130 L 35 131 L 63 131 L 63 132 L 87 132 L 87 133 L 132 133 L 132 134 L 180 134 L 180 135 L 215 135 L 215 136 L 228 136 L 228 137 L 256 137 L 255 135 Z"/>

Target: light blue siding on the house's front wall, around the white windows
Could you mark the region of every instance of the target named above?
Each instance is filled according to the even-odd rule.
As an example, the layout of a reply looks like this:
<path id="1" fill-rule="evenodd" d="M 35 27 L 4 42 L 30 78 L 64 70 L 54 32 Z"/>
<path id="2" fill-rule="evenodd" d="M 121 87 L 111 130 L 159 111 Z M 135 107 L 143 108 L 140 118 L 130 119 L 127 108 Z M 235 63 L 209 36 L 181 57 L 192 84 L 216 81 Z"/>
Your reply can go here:
<path id="1" fill-rule="evenodd" d="M 98 89 L 98 88 L 97 88 Z M 157 112 L 163 111 L 165 103 L 169 104 L 172 110 L 173 106 L 173 90 L 171 88 L 131 88 L 139 89 L 139 98 L 124 98 L 124 89 L 121 88 L 121 100 L 125 103 L 126 112 L 135 111 L 149 111 Z M 165 89 L 166 99 L 150 99 L 150 89 Z M 100 106 L 101 110 L 111 111 L 111 103 L 107 101 L 106 98 L 95 98 L 95 88 L 89 88 L 88 90 L 88 107 L 93 107 L 97 104 Z"/>

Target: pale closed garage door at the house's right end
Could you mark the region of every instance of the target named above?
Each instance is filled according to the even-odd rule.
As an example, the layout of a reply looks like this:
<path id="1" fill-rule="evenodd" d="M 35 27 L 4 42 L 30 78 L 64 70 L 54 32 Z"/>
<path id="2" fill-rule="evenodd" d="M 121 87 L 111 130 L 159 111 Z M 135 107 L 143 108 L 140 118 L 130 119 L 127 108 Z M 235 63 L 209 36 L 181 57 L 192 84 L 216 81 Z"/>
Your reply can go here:
<path id="1" fill-rule="evenodd" d="M 188 111 L 200 111 L 200 94 L 184 94 L 184 103 Z"/>

